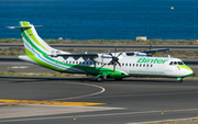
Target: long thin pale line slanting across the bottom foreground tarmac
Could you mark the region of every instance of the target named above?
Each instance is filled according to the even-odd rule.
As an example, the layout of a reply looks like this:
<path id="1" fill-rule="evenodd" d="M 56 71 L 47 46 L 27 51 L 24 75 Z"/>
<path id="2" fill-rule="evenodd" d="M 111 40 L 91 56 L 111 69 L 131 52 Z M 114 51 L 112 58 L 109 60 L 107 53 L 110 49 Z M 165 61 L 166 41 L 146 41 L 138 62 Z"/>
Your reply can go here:
<path id="1" fill-rule="evenodd" d="M 184 110 L 164 110 L 165 112 L 178 112 L 178 111 L 196 111 L 198 109 L 184 109 Z M 107 113 L 107 114 L 89 114 L 89 115 L 75 115 L 78 117 L 98 117 L 98 116 L 113 116 L 113 115 L 128 115 L 128 114 L 150 114 L 158 113 L 162 111 L 143 111 L 143 112 L 125 112 L 125 113 Z M 74 119 L 73 116 L 56 116 L 56 117 L 34 117 L 34 119 L 14 119 L 14 120 L 0 120 L 0 122 L 19 122 L 19 121 L 36 121 L 36 120 L 57 120 L 57 119 Z"/>

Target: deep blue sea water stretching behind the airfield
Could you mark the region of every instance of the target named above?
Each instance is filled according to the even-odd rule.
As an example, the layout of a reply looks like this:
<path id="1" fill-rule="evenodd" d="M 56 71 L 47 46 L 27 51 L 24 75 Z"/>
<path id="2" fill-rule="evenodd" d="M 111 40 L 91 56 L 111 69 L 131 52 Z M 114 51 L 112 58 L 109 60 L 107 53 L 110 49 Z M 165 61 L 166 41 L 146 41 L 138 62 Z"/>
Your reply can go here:
<path id="1" fill-rule="evenodd" d="M 198 40 L 198 0 L 0 0 L 0 38 L 21 38 L 19 21 L 44 40 Z"/>

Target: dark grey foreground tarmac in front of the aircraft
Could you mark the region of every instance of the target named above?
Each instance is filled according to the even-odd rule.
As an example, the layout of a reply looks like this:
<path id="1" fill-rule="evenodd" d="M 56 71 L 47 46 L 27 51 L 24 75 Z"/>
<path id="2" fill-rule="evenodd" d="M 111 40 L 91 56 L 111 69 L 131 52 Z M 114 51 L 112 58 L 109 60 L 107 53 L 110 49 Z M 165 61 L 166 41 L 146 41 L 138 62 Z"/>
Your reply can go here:
<path id="1" fill-rule="evenodd" d="M 142 78 L 121 82 L 52 77 L 0 77 L 0 100 L 105 103 L 94 106 L 4 103 L 0 105 L 1 124 L 125 124 L 198 115 L 197 80 L 184 83 Z"/>

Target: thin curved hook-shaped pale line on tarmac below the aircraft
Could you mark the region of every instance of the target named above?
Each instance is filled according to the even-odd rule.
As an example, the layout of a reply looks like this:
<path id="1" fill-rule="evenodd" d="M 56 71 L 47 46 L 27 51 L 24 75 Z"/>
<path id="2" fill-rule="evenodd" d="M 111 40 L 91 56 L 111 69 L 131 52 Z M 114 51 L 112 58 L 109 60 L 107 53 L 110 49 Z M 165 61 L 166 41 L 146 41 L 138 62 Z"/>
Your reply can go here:
<path id="1" fill-rule="evenodd" d="M 66 83 L 74 83 L 74 84 L 84 84 L 84 86 L 89 86 L 89 87 L 96 87 L 96 88 L 100 88 L 101 91 L 96 92 L 96 93 L 90 93 L 90 94 L 85 94 L 85 95 L 78 95 L 78 97 L 72 97 L 72 98 L 62 98 L 62 99 L 53 99 L 53 100 L 72 100 L 72 99 L 81 99 L 81 98 L 86 98 L 86 97 L 92 97 L 92 95 L 97 95 L 100 93 L 103 93 L 106 91 L 106 89 L 101 86 L 96 86 L 96 84 L 89 84 L 89 83 L 79 83 L 79 82 L 66 82 Z"/>

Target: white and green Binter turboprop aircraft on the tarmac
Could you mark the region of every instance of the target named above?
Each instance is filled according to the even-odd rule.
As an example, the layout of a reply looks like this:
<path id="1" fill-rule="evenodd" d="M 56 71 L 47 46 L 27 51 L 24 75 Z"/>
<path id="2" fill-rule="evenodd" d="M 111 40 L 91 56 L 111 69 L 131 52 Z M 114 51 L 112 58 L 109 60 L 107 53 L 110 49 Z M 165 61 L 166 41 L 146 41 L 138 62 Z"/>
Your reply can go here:
<path id="1" fill-rule="evenodd" d="M 169 48 L 141 52 L 114 53 L 110 50 L 101 54 L 72 54 L 48 46 L 36 33 L 33 24 L 21 21 L 20 29 L 26 55 L 20 59 L 37 64 L 61 72 L 85 74 L 96 76 L 99 82 L 106 78 L 122 80 L 127 77 L 168 77 L 183 82 L 193 70 L 180 59 L 172 57 L 153 57 L 153 54 Z"/>

